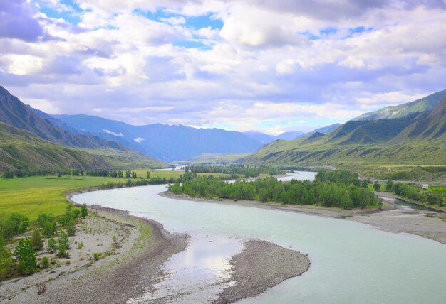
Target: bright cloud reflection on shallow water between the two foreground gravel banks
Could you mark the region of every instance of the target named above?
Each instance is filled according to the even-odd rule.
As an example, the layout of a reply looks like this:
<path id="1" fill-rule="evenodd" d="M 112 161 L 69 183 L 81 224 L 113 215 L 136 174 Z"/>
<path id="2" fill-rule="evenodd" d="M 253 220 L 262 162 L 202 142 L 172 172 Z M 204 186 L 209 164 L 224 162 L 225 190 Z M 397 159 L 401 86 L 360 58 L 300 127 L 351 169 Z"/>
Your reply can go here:
<path id="1" fill-rule="evenodd" d="M 243 249 L 242 239 L 224 234 L 192 234 L 187 249 L 164 265 L 167 278 L 128 303 L 208 303 L 229 286 L 229 259 Z"/>

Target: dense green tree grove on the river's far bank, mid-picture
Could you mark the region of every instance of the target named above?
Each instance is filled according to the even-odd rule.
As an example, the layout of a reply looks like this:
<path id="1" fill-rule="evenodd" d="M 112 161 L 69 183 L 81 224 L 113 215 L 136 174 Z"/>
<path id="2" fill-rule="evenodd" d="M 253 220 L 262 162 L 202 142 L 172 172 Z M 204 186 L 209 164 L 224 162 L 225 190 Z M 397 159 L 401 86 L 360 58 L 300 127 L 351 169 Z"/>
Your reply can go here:
<path id="1" fill-rule="evenodd" d="M 237 180 L 235 183 L 226 183 L 212 176 L 197 177 L 184 180 L 182 185 L 175 182 L 169 185 L 169 190 L 191 197 L 259 200 L 345 209 L 382 205 L 373 191 L 362 187 L 358 176 L 350 175 L 348 171 L 333 174 L 321 170 L 313 182 L 291 180 L 289 183 L 282 183 L 272 177 L 251 181 Z"/>

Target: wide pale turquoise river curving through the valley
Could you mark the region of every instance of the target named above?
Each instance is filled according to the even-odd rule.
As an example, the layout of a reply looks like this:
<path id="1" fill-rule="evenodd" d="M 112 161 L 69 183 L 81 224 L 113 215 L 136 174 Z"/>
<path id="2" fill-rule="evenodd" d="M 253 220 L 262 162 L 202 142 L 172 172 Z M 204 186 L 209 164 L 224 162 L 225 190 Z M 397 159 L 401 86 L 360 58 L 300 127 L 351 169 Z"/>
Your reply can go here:
<path id="1" fill-rule="evenodd" d="M 313 173 L 296 173 L 311 178 Z M 169 293 L 174 302 L 206 303 L 227 278 L 228 259 L 257 238 L 308 254 L 311 268 L 240 303 L 445 303 L 446 246 L 358 222 L 237 205 L 160 197 L 165 185 L 83 193 L 78 203 L 103 205 L 154 219 L 170 232 L 190 234 L 172 256 L 170 277 L 133 302 Z"/>

